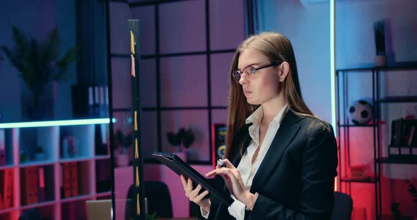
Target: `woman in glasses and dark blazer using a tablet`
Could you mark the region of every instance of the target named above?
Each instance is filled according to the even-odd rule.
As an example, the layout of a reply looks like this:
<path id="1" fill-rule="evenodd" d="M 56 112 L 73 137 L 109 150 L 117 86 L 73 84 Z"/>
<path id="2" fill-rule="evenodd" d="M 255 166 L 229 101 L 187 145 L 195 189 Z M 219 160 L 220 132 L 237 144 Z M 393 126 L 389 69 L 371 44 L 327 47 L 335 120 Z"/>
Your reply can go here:
<path id="1" fill-rule="evenodd" d="M 226 167 L 230 207 L 204 198 L 181 176 L 205 219 L 330 219 L 336 140 L 331 126 L 303 102 L 290 41 L 274 32 L 246 39 L 230 75 Z"/>

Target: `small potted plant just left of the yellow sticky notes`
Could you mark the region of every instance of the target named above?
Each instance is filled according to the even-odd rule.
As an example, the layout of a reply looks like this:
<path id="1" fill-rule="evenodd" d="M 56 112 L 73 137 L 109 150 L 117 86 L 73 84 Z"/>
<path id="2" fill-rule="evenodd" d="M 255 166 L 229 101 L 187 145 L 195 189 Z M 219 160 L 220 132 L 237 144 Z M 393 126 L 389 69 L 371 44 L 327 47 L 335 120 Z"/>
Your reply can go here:
<path id="1" fill-rule="evenodd" d="M 117 166 L 128 166 L 130 161 L 129 148 L 131 147 L 131 133 L 124 135 L 121 130 L 117 130 L 115 136 L 115 145 L 118 149 L 116 156 Z"/>

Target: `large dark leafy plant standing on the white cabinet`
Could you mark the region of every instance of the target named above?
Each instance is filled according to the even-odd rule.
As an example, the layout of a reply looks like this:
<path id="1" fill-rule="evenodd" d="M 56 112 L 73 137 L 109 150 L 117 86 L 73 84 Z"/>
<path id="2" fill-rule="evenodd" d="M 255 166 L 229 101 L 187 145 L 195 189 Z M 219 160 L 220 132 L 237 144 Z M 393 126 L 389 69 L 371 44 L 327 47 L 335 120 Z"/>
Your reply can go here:
<path id="1" fill-rule="evenodd" d="M 57 27 L 49 32 L 43 42 L 24 35 L 18 27 L 13 26 L 13 48 L 1 46 L 1 50 L 18 69 L 19 76 L 32 95 L 33 103 L 28 106 L 28 116 L 32 119 L 42 119 L 45 112 L 41 107 L 40 97 L 45 87 L 58 82 L 65 76 L 71 63 L 78 59 L 79 46 L 72 47 L 59 57 L 59 36 Z"/>

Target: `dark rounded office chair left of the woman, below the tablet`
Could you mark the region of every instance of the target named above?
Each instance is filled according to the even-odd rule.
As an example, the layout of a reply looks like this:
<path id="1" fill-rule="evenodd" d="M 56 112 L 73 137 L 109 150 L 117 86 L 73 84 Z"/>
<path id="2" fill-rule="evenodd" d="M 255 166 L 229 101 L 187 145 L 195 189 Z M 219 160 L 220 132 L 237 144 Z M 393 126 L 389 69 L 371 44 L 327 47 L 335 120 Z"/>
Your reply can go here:
<path id="1" fill-rule="evenodd" d="M 172 218 L 172 204 L 171 195 L 168 186 L 160 181 L 145 181 L 143 183 L 145 197 L 148 200 L 147 214 L 156 213 L 160 218 Z M 135 201 L 134 185 L 129 187 L 127 193 L 128 201 Z M 127 202 L 126 205 L 126 218 L 130 219 L 134 216 L 135 204 L 134 202 Z"/>

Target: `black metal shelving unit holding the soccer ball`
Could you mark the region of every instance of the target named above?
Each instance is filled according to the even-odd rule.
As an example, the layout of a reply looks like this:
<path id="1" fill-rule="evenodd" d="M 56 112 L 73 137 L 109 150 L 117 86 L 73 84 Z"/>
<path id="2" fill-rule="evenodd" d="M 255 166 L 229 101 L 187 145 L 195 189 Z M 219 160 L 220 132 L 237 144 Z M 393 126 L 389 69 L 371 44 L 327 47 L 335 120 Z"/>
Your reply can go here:
<path id="1" fill-rule="evenodd" d="M 399 103 L 413 103 L 417 102 L 417 97 L 415 94 L 411 96 L 387 96 L 383 97 L 380 95 L 380 80 L 381 80 L 381 73 L 389 72 L 398 72 L 398 71 L 417 71 L 417 66 L 395 66 L 395 67 L 384 67 L 384 68 L 350 68 L 350 69 L 340 69 L 336 71 L 336 93 L 337 93 L 337 129 L 338 129 L 338 140 L 339 140 L 339 179 L 341 185 L 341 191 L 349 191 L 351 188 L 351 184 L 353 183 L 368 183 L 374 185 L 375 189 L 375 216 L 376 219 L 384 219 L 384 215 L 382 214 L 382 193 L 381 193 L 381 170 L 382 165 L 386 164 L 417 164 L 416 157 L 409 157 L 409 158 L 392 158 L 387 157 L 388 155 L 384 155 L 383 148 L 388 147 L 382 145 L 382 138 L 384 134 L 382 134 L 382 126 L 389 126 L 390 121 L 383 121 L 384 118 L 381 116 L 381 109 L 382 104 L 399 104 Z M 372 102 L 373 102 L 373 122 L 372 124 L 366 125 L 353 125 L 348 123 L 347 117 L 347 91 L 348 91 L 348 83 L 347 83 L 347 75 L 352 73 L 363 74 L 371 74 L 370 77 L 372 78 Z M 358 73 L 361 72 L 361 73 Z M 364 72 L 364 73 L 362 73 Z M 369 76 L 369 75 L 368 75 Z M 362 77 L 362 76 L 361 76 Z M 376 123 L 375 123 L 376 122 Z M 373 145 L 373 155 L 369 155 L 373 159 L 373 173 L 375 173 L 374 177 L 366 178 L 363 180 L 352 179 L 348 177 L 348 168 L 351 166 L 351 155 L 350 155 L 350 142 L 351 140 L 351 129 L 372 129 L 372 145 Z M 390 129 L 390 127 L 389 127 Z M 343 137 L 343 138 L 342 138 Z M 343 169 L 342 169 L 343 166 Z M 343 188 L 346 186 L 346 189 Z M 346 193 L 346 192 L 345 192 Z"/>

